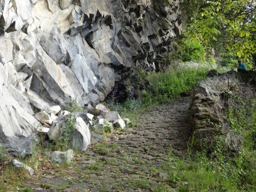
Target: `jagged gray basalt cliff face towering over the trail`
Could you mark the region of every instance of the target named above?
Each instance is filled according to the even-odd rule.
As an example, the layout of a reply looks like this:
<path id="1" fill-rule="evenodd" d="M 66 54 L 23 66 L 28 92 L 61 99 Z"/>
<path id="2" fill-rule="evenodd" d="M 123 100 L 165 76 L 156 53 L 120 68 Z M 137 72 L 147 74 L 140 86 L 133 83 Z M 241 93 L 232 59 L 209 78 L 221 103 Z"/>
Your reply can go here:
<path id="1" fill-rule="evenodd" d="M 0 143 L 32 135 L 35 108 L 96 105 L 159 68 L 180 16 L 179 0 L 0 0 Z"/>

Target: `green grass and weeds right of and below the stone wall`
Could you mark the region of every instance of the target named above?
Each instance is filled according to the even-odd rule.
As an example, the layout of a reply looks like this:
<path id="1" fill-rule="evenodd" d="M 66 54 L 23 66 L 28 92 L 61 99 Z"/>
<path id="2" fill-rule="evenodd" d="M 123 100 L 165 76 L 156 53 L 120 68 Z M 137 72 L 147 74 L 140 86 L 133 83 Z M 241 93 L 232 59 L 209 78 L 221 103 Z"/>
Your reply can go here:
<path id="1" fill-rule="evenodd" d="M 221 144 L 211 155 L 204 151 L 191 153 L 192 146 L 186 158 L 170 153 L 168 165 L 162 168 L 169 176 L 166 182 L 177 191 L 256 191 L 255 109 L 253 95 L 241 99 L 234 90 L 226 116 L 232 131 L 244 140 L 238 154 L 230 157 Z"/>

